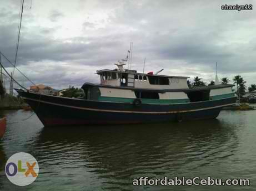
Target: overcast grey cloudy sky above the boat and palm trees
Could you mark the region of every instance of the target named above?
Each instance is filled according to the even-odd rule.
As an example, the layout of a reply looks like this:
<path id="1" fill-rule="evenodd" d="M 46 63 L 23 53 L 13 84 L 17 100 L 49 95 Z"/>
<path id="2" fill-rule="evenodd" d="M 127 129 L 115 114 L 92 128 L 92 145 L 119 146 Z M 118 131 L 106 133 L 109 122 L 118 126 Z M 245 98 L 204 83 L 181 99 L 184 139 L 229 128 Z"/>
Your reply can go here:
<path id="1" fill-rule="evenodd" d="M 252 4 L 252 11 L 221 6 Z M 255 8 L 254 8 L 255 6 Z M 15 60 L 21 0 L 1 1 L 0 51 Z M 17 67 L 56 89 L 99 82 L 133 42 L 132 69 L 214 80 L 241 75 L 256 84 L 256 1 L 25 0 Z M 2 62 L 11 71 L 5 59 Z M 16 71 L 25 86 L 28 81 Z"/>

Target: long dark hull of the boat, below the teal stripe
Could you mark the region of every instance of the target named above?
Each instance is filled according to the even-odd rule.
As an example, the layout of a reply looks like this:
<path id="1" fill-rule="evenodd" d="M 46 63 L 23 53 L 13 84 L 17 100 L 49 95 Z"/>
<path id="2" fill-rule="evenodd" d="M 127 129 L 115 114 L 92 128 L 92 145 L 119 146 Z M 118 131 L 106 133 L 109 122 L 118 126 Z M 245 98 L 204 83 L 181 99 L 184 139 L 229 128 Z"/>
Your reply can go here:
<path id="1" fill-rule="evenodd" d="M 184 104 L 142 104 L 69 99 L 16 90 L 44 126 L 128 124 L 216 118 L 236 97 Z"/>

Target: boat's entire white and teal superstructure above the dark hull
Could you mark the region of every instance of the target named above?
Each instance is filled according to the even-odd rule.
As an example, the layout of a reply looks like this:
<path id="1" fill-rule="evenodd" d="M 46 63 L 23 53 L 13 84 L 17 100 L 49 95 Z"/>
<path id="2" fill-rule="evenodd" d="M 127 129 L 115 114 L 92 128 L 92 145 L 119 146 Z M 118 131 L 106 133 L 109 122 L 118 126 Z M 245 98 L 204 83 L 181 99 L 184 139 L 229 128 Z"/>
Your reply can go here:
<path id="1" fill-rule="evenodd" d="M 85 83 L 82 86 L 85 99 L 111 102 L 133 102 L 136 99 L 145 104 L 182 104 L 200 102 L 233 96 L 233 85 L 204 86 L 189 89 L 188 77 L 165 76 L 152 72 L 137 73 L 123 69 L 98 70 L 100 84 Z"/>

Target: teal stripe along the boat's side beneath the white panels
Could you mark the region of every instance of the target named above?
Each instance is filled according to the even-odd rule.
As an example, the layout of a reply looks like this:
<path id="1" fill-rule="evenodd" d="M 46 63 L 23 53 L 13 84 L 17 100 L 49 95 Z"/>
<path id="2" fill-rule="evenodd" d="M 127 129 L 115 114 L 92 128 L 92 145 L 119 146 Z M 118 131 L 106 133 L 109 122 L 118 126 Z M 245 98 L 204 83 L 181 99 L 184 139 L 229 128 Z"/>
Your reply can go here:
<path id="1" fill-rule="evenodd" d="M 233 93 L 231 94 L 222 94 L 222 95 L 215 95 L 210 96 L 210 100 L 219 100 L 227 97 L 234 97 Z M 99 96 L 99 101 L 110 101 L 110 102 L 124 102 L 130 103 L 133 102 L 133 98 L 125 98 L 125 97 L 106 97 L 106 96 Z M 159 100 L 159 99 L 141 99 L 143 104 L 184 104 L 190 102 L 189 99 L 173 99 L 173 100 Z"/>

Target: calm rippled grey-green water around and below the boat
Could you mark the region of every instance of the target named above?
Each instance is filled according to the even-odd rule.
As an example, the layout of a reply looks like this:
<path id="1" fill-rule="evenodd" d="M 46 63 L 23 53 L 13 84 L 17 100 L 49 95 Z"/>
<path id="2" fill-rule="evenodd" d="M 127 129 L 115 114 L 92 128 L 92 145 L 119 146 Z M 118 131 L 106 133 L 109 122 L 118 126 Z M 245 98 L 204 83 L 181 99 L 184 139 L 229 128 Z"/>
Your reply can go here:
<path id="1" fill-rule="evenodd" d="M 255 190 L 256 111 L 217 120 L 153 125 L 43 128 L 30 111 L 5 112 L 0 190 Z M 11 123 L 12 122 L 12 123 Z M 13 123 L 18 122 L 18 123 Z M 8 157 L 32 154 L 39 175 L 27 187 L 4 173 Z M 133 178 L 249 178 L 250 186 L 133 186 Z"/>

